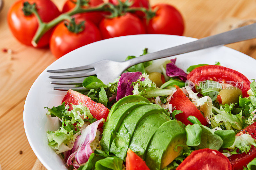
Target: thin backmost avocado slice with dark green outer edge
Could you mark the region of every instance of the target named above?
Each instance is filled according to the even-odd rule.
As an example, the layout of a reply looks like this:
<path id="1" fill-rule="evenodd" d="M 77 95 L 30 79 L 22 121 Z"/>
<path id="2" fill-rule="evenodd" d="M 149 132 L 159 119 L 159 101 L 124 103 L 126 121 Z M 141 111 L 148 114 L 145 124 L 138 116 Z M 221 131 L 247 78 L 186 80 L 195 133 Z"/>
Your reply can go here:
<path id="1" fill-rule="evenodd" d="M 131 102 L 140 102 L 140 101 L 145 101 L 147 103 L 150 103 L 148 99 L 145 97 L 142 97 L 140 95 L 129 95 L 125 96 L 124 98 L 118 100 L 110 109 L 107 117 L 107 122 L 110 118 L 110 116 L 116 111 L 116 109 L 120 106 L 123 106 L 124 104 L 131 103 Z"/>

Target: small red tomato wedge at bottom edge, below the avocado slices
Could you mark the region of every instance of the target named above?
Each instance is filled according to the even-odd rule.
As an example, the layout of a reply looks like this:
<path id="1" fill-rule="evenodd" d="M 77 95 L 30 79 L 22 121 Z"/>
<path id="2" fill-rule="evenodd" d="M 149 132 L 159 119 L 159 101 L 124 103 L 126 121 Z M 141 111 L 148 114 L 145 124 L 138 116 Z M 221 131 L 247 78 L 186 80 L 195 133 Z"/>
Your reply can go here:
<path id="1" fill-rule="evenodd" d="M 128 149 L 126 157 L 126 170 L 149 170 L 149 168 L 143 159 L 136 155 L 136 153 L 132 152 L 131 149 Z"/>

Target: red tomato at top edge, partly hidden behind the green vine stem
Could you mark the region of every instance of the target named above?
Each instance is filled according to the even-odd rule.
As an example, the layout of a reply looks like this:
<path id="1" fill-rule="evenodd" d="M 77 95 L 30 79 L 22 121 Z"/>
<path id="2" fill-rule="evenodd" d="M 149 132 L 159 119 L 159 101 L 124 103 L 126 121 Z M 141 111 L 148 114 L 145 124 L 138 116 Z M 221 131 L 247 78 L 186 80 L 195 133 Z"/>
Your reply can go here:
<path id="1" fill-rule="evenodd" d="M 121 0 L 121 2 L 125 2 L 126 0 Z M 118 5 L 118 0 L 109 0 L 108 1 L 111 4 Z M 128 0 L 129 3 L 132 3 L 131 7 L 144 7 L 149 8 L 149 1 L 148 0 Z M 135 14 L 139 17 L 144 17 L 145 14 L 141 11 L 136 11 Z"/>

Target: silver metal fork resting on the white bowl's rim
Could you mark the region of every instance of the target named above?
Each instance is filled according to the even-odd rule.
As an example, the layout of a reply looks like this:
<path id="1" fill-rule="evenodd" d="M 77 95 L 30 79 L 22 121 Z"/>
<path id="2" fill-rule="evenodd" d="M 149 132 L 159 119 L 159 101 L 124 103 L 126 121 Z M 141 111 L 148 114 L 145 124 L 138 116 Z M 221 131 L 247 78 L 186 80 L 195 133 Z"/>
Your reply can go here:
<path id="1" fill-rule="evenodd" d="M 154 53 L 142 55 L 140 57 L 133 58 L 131 60 L 127 60 L 124 62 L 101 60 L 99 62 L 81 66 L 81 67 L 60 69 L 60 70 L 48 70 L 47 72 L 64 73 L 64 72 L 84 70 L 85 72 L 81 74 L 73 74 L 73 75 L 67 75 L 67 76 L 49 76 L 49 78 L 53 78 L 53 79 L 86 78 L 88 76 L 96 75 L 103 83 L 107 84 L 109 82 L 113 82 L 115 78 L 117 78 L 124 72 L 124 70 L 138 63 L 156 60 L 156 59 L 169 57 L 173 55 L 184 54 L 184 53 L 188 53 L 188 52 L 192 52 L 192 51 L 196 51 L 204 48 L 230 44 L 238 41 L 249 40 L 252 38 L 256 38 L 256 23 L 248 26 L 236 28 L 228 32 L 205 37 L 205 38 L 192 41 L 186 44 L 182 44 L 179 46 L 175 46 L 172 48 L 167 48 Z M 82 84 L 82 82 L 83 82 L 82 80 L 77 80 L 77 81 L 52 81 L 51 83 L 56 85 L 78 85 L 78 84 Z M 84 87 L 54 87 L 53 89 L 62 90 L 62 91 L 67 91 L 68 89 L 81 90 L 81 91 L 87 90 Z"/>

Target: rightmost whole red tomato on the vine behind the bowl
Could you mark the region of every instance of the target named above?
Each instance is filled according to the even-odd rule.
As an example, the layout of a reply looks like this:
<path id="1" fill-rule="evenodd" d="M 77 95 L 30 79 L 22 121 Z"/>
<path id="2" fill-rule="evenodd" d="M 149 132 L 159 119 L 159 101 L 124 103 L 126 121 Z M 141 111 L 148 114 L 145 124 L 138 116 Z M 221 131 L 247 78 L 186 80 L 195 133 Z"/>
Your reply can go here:
<path id="1" fill-rule="evenodd" d="M 180 12 L 171 5 L 158 4 L 153 6 L 156 16 L 147 23 L 146 29 L 149 34 L 171 34 L 182 35 L 184 32 L 184 21 Z"/>

